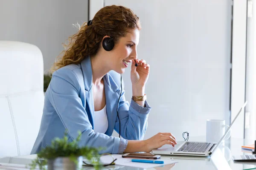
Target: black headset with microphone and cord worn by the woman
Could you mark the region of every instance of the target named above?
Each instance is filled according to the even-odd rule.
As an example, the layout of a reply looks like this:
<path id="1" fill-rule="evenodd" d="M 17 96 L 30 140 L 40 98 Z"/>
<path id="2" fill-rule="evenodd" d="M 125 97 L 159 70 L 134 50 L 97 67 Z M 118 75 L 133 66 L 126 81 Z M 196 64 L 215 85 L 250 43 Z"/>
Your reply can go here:
<path id="1" fill-rule="evenodd" d="M 92 20 L 89 20 L 87 22 L 87 26 L 90 26 L 92 25 L 93 21 Z M 102 41 L 102 47 L 104 48 L 104 50 L 106 51 L 111 51 L 113 48 L 114 48 L 114 40 L 113 40 L 113 37 L 106 37 L 103 39 Z M 138 66 L 136 60 L 134 59 L 135 61 L 135 67 Z M 120 97 L 121 97 L 121 94 L 122 94 L 122 75 L 120 74 L 121 76 L 121 92 L 120 92 L 120 95 L 119 95 L 119 99 L 118 99 L 118 102 L 117 102 L 117 106 L 116 106 L 116 113 L 117 113 L 117 117 L 118 117 L 118 120 L 119 120 L 119 138 L 120 138 L 120 133 L 121 133 L 121 122 L 120 122 L 120 118 L 119 118 L 119 114 L 118 114 L 118 108 L 119 108 L 119 101 L 120 101 Z"/>

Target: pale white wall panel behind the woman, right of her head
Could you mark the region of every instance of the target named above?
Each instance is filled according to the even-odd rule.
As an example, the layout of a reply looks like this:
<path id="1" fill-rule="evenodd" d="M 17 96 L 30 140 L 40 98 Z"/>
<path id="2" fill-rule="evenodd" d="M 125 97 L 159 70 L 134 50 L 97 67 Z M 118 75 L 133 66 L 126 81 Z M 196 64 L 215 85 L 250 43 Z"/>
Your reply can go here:
<path id="1" fill-rule="evenodd" d="M 158 132 L 203 136 L 207 119 L 229 124 L 231 1 L 105 0 L 112 4 L 131 8 L 142 23 L 138 58 L 151 65 L 145 139 Z M 129 68 L 123 79 L 130 100 Z"/>

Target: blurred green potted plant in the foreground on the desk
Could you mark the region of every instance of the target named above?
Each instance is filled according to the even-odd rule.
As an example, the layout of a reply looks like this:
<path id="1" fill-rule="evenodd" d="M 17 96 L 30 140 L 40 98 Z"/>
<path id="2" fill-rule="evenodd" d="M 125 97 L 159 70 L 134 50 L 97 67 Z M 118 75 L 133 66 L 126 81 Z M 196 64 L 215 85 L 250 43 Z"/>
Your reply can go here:
<path id="1" fill-rule="evenodd" d="M 81 170 L 83 157 L 94 165 L 95 169 L 99 169 L 99 149 L 94 147 L 79 147 L 79 136 L 68 142 L 67 133 L 63 139 L 55 138 L 50 146 L 45 147 L 38 153 L 37 159 L 29 164 L 29 168 L 35 170 L 38 166 L 41 170 Z M 46 167 L 47 165 L 47 167 Z"/>

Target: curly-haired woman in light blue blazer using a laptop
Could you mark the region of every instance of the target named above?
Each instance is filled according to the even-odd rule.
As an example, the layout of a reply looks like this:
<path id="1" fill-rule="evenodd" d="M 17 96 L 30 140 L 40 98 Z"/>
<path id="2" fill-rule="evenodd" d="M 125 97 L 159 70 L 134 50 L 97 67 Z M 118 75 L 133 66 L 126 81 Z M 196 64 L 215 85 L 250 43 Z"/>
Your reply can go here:
<path id="1" fill-rule="evenodd" d="M 171 133 L 141 140 L 151 108 L 144 95 L 149 65 L 137 59 L 140 28 L 139 18 L 130 9 L 106 6 L 70 38 L 63 57 L 52 68 L 32 154 L 55 137 L 62 138 L 65 130 L 69 141 L 80 130 L 79 144 L 105 148 L 101 153 L 150 152 L 163 144 L 177 144 Z M 131 105 L 125 101 L 120 76 L 130 63 Z M 111 136 L 113 130 L 124 139 Z"/>

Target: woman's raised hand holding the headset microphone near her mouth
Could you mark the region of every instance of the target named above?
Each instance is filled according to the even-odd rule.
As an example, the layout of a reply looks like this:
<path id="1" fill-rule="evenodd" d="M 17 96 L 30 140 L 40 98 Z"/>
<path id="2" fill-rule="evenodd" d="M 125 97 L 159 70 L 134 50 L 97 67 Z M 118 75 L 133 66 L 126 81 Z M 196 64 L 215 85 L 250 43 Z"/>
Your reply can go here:
<path id="1" fill-rule="evenodd" d="M 143 59 L 136 59 L 136 62 L 138 64 L 137 67 L 135 67 L 134 59 L 132 60 L 131 65 L 131 83 L 134 88 L 140 89 L 144 88 L 149 75 L 149 64 L 146 63 Z"/>

